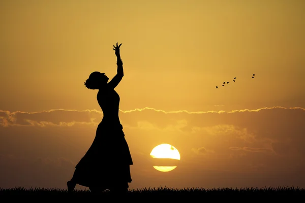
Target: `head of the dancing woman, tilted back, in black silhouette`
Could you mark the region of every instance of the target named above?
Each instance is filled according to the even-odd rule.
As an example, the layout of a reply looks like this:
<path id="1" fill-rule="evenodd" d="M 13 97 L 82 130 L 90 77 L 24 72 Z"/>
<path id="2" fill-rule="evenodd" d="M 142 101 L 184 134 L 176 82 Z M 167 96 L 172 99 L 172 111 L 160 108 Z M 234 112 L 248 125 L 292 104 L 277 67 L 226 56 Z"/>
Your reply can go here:
<path id="1" fill-rule="evenodd" d="M 93 72 L 89 78 L 84 82 L 84 85 L 88 89 L 100 89 L 107 84 L 109 78 L 100 72 Z"/>

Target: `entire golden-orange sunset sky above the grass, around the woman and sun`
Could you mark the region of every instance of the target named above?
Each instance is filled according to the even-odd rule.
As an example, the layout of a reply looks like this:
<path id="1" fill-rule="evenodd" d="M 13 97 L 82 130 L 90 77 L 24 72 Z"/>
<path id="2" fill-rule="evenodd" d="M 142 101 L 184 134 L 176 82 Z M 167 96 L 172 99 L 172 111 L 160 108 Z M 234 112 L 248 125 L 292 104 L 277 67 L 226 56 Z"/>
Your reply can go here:
<path id="1" fill-rule="evenodd" d="M 116 74 L 116 42 L 130 188 L 305 187 L 304 11 L 298 0 L 0 1 L 0 188 L 66 188 L 103 117 L 84 81 Z M 170 172 L 149 155 L 163 143 L 181 156 Z"/>

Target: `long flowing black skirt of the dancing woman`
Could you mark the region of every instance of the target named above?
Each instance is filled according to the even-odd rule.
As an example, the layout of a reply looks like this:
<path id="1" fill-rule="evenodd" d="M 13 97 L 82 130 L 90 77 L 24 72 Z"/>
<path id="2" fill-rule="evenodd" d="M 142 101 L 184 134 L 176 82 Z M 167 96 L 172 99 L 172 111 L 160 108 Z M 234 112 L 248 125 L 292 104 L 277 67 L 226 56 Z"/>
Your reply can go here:
<path id="1" fill-rule="evenodd" d="M 113 185 L 132 182 L 133 165 L 123 126 L 100 123 L 96 137 L 78 164 L 74 181 L 85 187 L 109 189 Z"/>

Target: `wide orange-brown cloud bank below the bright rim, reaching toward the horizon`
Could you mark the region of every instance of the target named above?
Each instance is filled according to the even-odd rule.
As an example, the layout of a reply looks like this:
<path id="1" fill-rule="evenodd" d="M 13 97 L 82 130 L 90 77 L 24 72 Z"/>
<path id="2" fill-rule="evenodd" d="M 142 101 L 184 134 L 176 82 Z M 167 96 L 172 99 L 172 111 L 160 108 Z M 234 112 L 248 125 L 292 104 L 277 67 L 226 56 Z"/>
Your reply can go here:
<path id="1" fill-rule="evenodd" d="M 6 159 L 2 162 L 8 166 L 6 173 L 18 177 L 20 171 L 14 168 L 28 165 L 27 174 L 34 170 L 40 173 L 40 178 L 45 173 L 54 177 L 56 173 L 64 173 L 65 179 L 71 178 L 75 164 L 92 144 L 102 116 L 97 110 L 0 111 L 3 126 L 0 127 L 0 154 L 3 155 L 0 160 Z M 203 171 L 208 170 L 253 173 L 253 180 L 258 178 L 255 174 L 281 177 L 280 173 L 291 173 L 297 181 L 305 170 L 303 108 L 229 112 L 165 112 L 144 108 L 120 111 L 119 116 L 134 160 L 131 168 L 135 182 L 146 180 L 147 173 L 157 180 L 159 175 L 154 174 L 154 160 L 149 153 L 162 143 L 178 149 L 181 160 L 172 174 L 180 173 L 180 177 L 188 177 L 188 180 L 197 180 L 194 171 L 196 176 L 204 177 Z M 36 160 L 37 165 L 27 164 L 23 159 L 12 158 L 9 162 L 4 156 L 10 154 Z M 65 172 L 60 172 L 63 168 Z M 39 181 L 37 179 L 37 184 L 44 184 Z"/>

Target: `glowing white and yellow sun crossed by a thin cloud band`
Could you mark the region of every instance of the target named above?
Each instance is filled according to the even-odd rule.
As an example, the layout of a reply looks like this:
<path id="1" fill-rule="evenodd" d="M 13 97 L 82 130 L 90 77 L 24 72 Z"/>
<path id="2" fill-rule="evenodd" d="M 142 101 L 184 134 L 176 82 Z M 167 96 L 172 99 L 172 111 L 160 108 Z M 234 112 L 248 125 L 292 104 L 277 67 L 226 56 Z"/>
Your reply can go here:
<path id="1" fill-rule="evenodd" d="M 172 162 L 170 160 L 180 160 L 180 153 L 179 151 L 172 145 L 169 144 L 161 144 L 156 146 L 153 150 L 150 152 L 150 156 L 154 159 L 164 159 L 167 162 Z M 157 161 L 157 162 L 158 162 Z M 160 160 L 160 163 L 162 161 Z M 164 162 L 164 161 L 163 161 Z M 169 172 L 176 168 L 177 166 L 160 166 L 155 165 L 154 168 L 161 172 Z"/>

